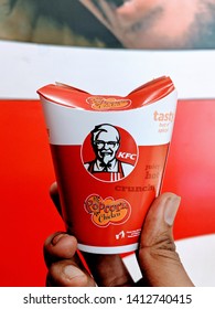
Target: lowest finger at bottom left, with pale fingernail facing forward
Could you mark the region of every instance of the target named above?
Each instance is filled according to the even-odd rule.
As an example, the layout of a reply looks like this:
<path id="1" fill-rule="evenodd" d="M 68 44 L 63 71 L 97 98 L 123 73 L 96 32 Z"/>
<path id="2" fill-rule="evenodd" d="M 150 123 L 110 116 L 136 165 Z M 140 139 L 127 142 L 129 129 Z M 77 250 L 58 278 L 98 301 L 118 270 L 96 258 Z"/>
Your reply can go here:
<path id="1" fill-rule="evenodd" d="M 49 268 L 46 286 L 52 287 L 95 287 L 93 277 L 79 268 L 74 260 L 53 263 Z"/>

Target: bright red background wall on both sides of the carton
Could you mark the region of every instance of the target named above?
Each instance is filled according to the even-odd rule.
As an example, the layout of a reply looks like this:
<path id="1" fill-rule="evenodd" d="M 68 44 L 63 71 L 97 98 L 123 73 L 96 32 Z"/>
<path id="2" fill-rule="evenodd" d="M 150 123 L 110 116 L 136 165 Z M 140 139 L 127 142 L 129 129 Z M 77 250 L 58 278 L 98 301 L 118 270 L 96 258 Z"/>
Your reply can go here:
<path id="1" fill-rule="evenodd" d="M 215 100 L 180 100 L 162 191 L 182 196 L 175 239 L 215 233 Z M 37 100 L 0 100 L 0 286 L 44 286 L 43 242 L 64 224 Z"/>

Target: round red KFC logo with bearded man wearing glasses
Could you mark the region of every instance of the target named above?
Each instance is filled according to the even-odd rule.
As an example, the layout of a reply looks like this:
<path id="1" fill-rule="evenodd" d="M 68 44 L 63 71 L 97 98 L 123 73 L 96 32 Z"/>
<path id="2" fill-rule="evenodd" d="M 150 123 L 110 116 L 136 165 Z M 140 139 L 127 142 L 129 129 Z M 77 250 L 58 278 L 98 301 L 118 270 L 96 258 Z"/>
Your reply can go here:
<path id="1" fill-rule="evenodd" d="M 85 169 L 93 177 L 109 182 L 127 177 L 138 159 L 133 138 L 109 124 L 95 126 L 85 139 L 82 152 Z"/>

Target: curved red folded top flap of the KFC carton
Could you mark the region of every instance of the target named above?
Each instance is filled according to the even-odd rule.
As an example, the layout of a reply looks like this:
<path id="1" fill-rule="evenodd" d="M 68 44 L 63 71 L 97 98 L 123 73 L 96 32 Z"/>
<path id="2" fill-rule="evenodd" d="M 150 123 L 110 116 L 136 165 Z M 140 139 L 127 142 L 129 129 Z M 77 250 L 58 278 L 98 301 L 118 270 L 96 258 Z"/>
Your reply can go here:
<path id="1" fill-rule="evenodd" d="M 127 96 L 93 95 L 61 83 L 46 85 L 37 90 L 45 100 L 84 110 L 108 111 L 140 108 L 168 96 L 174 90 L 170 77 L 162 76 L 136 88 Z"/>

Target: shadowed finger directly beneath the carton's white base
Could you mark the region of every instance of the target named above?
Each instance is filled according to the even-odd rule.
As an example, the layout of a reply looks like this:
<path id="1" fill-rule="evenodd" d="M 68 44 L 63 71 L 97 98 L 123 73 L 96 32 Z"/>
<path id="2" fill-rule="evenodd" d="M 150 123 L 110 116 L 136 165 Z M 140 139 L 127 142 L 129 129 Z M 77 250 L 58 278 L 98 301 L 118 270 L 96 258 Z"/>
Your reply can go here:
<path id="1" fill-rule="evenodd" d="M 99 255 L 89 253 L 83 253 L 83 255 L 98 286 L 133 286 L 133 280 L 119 255 Z"/>

